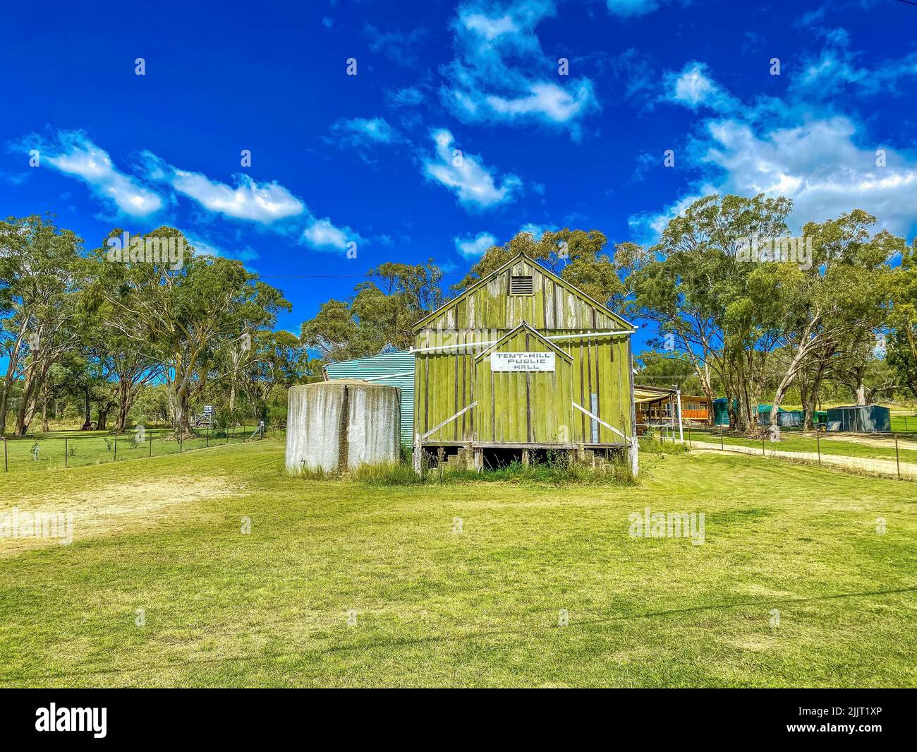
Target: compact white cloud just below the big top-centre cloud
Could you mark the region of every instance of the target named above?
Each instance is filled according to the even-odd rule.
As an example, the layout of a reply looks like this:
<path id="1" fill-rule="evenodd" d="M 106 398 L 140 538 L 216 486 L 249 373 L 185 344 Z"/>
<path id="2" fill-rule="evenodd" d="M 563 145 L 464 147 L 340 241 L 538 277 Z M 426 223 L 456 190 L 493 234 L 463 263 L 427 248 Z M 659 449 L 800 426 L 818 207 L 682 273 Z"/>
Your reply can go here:
<path id="1" fill-rule="evenodd" d="M 424 173 L 430 180 L 446 185 L 465 208 L 491 208 L 513 201 L 522 181 L 514 174 L 503 175 L 499 185 L 480 157 L 458 152 L 447 129 L 431 133 L 436 156 L 425 158 Z"/>

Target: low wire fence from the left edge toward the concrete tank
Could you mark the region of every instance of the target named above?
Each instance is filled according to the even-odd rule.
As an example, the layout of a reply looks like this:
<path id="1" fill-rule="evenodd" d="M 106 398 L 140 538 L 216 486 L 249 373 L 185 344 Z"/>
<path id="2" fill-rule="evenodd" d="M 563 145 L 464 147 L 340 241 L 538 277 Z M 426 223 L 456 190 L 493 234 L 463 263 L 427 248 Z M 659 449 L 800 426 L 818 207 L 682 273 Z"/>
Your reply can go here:
<path id="1" fill-rule="evenodd" d="M 192 429 L 193 436 L 176 438 L 170 429 L 146 429 L 90 435 L 38 434 L 3 440 L 3 471 L 102 465 L 109 462 L 180 455 L 184 452 L 260 441 L 263 424 L 243 424 L 226 429 Z"/>

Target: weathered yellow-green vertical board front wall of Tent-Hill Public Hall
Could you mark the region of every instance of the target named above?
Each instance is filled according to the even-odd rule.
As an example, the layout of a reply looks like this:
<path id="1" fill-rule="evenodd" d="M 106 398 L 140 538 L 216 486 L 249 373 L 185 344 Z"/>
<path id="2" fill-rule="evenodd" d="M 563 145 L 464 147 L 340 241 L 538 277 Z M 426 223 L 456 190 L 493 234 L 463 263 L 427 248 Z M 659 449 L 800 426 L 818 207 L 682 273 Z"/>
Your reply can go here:
<path id="1" fill-rule="evenodd" d="M 492 371 L 489 355 L 479 357 L 523 324 L 528 331 L 500 342 L 500 352 L 543 353 L 552 347 L 562 352 L 555 353 L 554 373 L 565 391 L 558 392 L 550 372 Z M 566 442 L 559 441 L 561 433 L 557 439 L 549 435 L 549 426 L 576 402 L 630 436 L 632 330 L 632 324 L 520 253 L 414 326 L 415 431 L 423 435 L 445 421 L 424 443 L 569 445 L 595 443 L 595 436 L 599 444 L 620 446 L 620 435 L 573 408 Z M 592 336 L 547 339 L 576 334 Z M 569 379 L 562 376 L 567 372 Z M 485 395 L 493 413 L 481 403 Z M 476 409 L 449 421 L 475 400 Z M 529 414 L 534 421 L 524 424 L 520 416 Z"/>

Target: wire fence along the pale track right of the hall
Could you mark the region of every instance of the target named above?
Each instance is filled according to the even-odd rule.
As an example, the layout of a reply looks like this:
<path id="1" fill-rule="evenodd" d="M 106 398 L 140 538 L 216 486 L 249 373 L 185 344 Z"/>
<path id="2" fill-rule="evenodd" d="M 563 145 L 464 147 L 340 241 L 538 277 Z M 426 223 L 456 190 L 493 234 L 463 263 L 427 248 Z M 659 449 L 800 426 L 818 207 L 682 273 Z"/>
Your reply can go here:
<path id="1" fill-rule="evenodd" d="M 917 423 L 917 417 L 911 418 Z M 909 422 L 911 422 L 909 421 Z M 912 424 L 917 429 L 917 424 Z M 725 426 L 645 426 L 661 441 L 683 442 L 690 448 L 842 467 L 863 475 L 917 481 L 917 431 L 841 432 L 760 427 L 755 437 L 731 432 Z"/>

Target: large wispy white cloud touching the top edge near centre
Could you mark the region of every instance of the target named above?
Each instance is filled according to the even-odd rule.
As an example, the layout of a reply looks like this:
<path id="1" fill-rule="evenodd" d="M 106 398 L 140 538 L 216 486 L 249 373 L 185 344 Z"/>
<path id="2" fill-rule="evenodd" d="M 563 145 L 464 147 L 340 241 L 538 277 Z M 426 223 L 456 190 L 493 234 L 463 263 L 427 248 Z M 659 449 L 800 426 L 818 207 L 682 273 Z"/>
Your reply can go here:
<path id="1" fill-rule="evenodd" d="M 536 122 L 580 138 L 580 120 L 599 107 L 591 80 L 558 76 L 541 50 L 537 25 L 556 9 L 550 0 L 514 0 L 494 13 L 466 0 L 453 22 L 456 56 L 443 67 L 440 98 L 464 122 Z"/>

